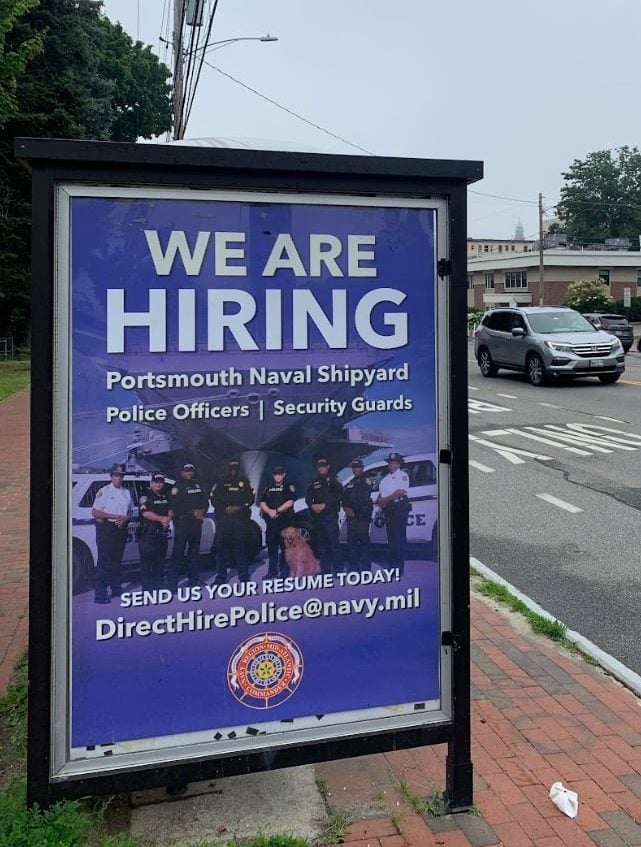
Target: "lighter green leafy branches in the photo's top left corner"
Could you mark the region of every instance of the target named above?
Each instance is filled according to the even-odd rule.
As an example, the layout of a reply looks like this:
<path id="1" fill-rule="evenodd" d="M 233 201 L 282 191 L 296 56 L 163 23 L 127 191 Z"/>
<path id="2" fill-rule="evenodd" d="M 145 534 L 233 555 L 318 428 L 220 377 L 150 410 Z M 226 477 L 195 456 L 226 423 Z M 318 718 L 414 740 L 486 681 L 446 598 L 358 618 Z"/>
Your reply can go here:
<path id="1" fill-rule="evenodd" d="M 16 21 L 38 4 L 38 0 L 0 0 L 0 127 L 17 109 L 16 91 L 29 61 L 42 49 L 42 36 L 34 35 L 7 47 L 7 36 Z"/>

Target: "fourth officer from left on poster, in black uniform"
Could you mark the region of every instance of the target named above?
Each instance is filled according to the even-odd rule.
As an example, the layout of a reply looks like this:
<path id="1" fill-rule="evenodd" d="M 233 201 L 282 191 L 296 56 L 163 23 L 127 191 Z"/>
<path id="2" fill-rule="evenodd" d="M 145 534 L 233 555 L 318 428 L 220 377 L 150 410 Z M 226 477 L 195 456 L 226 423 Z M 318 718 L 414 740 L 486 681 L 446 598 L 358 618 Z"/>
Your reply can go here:
<path id="1" fill-rule="evenodd" d="M 249 579 L 247 542 L 254 491 L 240 473 L 240 462 L 227 463 L 227 476 L 216 483 L 209 495 L 216 511 L 216 582 L 227 582 L 229 568 L 238 569 L 240 582 Z"/>

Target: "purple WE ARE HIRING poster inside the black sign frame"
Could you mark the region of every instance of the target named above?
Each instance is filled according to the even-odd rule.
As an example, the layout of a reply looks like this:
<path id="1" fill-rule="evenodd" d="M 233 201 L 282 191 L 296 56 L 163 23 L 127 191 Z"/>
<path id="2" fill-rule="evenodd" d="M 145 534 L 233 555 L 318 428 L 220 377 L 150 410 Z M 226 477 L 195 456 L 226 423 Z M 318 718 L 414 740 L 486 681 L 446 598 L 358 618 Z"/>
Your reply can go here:
<path id="1" fill-rule="evenodd" d="M 425 722 L 436 206 L 68 195 L 72 759 Z"/>

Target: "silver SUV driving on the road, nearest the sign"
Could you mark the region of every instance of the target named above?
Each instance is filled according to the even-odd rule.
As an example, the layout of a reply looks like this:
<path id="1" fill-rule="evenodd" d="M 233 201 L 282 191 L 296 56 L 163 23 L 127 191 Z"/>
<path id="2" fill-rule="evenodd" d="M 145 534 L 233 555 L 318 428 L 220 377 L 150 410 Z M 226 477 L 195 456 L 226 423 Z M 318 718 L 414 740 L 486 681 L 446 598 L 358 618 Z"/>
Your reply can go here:
<path id="1" fill-rule="evenodd" d="M 499 368 L 522 371 L 532 385 L 577 376 L 613 383 L 625 370 L 619 339 L 565 306 L 486 312 L 474 334 L 474 354 L 483 376 L 496 376 Z"/>

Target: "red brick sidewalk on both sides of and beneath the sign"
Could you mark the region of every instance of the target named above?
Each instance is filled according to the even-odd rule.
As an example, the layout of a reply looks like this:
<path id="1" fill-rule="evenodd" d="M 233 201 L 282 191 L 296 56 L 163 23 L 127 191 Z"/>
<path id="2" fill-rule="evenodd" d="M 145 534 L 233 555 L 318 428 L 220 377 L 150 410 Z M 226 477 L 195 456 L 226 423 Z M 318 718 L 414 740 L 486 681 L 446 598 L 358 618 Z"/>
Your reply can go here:
<path id="1" fill-rule="evenodd" d="M 8 465 L 0 483 L 1 690 L 26 648 L 28 403 L 28 392 L 22 392 L 0 404 L 0 446 Z M 351 847 L 641 845 L 639 699 L 480 596 L 472 601 L 472 662 L 474 813 L 419 814 L 420 798 L 444 787 L 445 748 L 426 747 L 307 770 L 308 793 L 297 795 L 298 805 L 305 806 L 299 813 L 309 818 L 304 831 L 322 829 L 320 787 L 329 807 L 342 813 L 334 819 L 349 821 L 343 843 Z M 283 789 L 288 773 L 294 776 L 253 777 L 263 792 L 254 796 L 269 796 L 272 804 L 263 832 L 288 830 L 296 803 Z M 559 780 L 579 794 L 576 819 L 565 817 L 549 799 L 550 786 Z M 247 822 L 241 832 L 226 817 L 227 783 L 231 780 L 220 780 L 212 793 L 198 798 L 200 837 L 212 843 L 248 834 Z M 144 828 L 136 824 L 147 814 L 154 826 L 146 844 L 184 838 L 193 831 L 195 802 L 186 798 L 136 810 L 132 831 L 142 834 Z M 247 811 L 251 807 L 244 804 Z M 163 825 L 169 818 L 171 826 Z"/>

